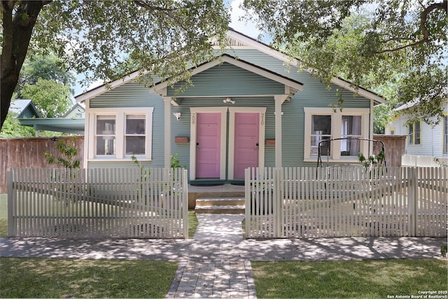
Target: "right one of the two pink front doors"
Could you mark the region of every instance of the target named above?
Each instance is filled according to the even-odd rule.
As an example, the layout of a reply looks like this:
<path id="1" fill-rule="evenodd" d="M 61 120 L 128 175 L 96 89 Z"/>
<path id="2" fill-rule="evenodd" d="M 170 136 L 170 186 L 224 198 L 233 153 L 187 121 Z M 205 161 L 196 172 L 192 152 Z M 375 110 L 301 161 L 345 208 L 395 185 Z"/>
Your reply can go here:
<path id="1" fill-rule="evenodd" d="M 244 169 L 258 167 L 259 120 L 260 113 L 235 113 L 235 179 L 244 179 Z"/>

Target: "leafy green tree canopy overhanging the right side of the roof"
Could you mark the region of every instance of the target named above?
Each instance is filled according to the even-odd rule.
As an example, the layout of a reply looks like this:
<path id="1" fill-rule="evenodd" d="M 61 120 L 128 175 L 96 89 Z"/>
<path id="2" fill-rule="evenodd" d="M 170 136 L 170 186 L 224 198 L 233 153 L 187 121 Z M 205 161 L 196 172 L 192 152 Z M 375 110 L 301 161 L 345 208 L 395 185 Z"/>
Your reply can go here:
<path id="1" fill-rule="evenodd" d="M 273 45 L 329 83 L 342 77 L 391 102 L 419 101 L 414 118 L 447 99 L 447 0 L 245 0 Z M 341 104 L 341 103 L 339 103 Z"/>

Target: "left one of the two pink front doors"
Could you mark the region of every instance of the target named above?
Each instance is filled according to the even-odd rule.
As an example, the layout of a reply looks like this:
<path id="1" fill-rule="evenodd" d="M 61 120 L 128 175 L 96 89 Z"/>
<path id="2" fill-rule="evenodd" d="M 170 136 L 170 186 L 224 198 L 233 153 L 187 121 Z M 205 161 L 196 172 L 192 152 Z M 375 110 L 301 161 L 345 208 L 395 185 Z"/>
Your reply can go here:
<path id="1" fill-rule="evenodd" d="M 196 178 L 219 179 L 221 113 L 197 113 Z"/>

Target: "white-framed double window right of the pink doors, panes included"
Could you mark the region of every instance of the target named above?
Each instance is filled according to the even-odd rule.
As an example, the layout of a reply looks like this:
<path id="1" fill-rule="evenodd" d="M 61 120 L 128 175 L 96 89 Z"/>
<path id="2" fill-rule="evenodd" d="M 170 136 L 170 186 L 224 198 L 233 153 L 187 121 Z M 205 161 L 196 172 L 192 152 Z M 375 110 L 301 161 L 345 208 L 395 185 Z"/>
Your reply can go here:
<path id="1" fill-rule="evenodd" d="M 316 161 L 319 144 L 321 155 L 330 162 L 356 162 L 358 153 L 367 154 L 369 109 L 304 108 L 304 161 Z M 325 142 L 323 140 L 339 139 Z"/>

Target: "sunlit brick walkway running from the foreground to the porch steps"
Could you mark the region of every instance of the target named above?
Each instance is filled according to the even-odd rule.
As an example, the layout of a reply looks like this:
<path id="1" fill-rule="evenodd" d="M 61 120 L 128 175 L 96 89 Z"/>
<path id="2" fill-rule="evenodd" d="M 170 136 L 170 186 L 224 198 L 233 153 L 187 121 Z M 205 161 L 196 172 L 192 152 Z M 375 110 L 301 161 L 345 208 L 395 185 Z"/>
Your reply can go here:
<path id="1" fill-rule="evenodd" d="M 235 256 L 223 260 L 221 254 L 243 241 L 243 218 L 241 214 L 197 214 L 193 239 L 215 246 L 198 248 L 200 256 L 192 254 L 192 260 L 179 264 L 166 298 L 256 298 L 251 262 Z M 203 254 L 204 249 L 208 254 Z"/>

